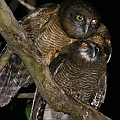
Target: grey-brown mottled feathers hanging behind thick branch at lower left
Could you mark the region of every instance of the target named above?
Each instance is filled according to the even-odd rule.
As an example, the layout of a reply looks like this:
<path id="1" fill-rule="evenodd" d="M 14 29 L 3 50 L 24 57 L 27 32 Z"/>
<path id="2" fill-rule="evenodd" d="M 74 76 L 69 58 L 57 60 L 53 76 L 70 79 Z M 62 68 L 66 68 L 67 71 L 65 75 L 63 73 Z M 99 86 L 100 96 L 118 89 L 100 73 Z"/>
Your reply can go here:
<path id="1" fill-rule="evenodd" d="M 32 81 L 22 60 L 13 54 L 0 71 L 0 107 L 7 105 L 21 87 L 28 86 Z"/>

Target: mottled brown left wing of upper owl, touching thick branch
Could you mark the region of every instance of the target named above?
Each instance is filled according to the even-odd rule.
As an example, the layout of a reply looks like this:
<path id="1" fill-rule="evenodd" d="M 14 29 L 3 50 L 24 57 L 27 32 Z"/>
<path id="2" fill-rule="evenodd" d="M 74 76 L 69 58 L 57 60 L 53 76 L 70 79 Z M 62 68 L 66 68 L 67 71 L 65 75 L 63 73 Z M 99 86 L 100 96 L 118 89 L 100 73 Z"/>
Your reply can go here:
<path id="1" fill-rule="evenodd" d="M 28 37 L 33 41 L 38 37 L 42 27 L 51 19 L 51 13 L 57 9 L 54 3 L 41 5 L 35 11 L 25 16 L 19 22 L 28 34 Z"/>

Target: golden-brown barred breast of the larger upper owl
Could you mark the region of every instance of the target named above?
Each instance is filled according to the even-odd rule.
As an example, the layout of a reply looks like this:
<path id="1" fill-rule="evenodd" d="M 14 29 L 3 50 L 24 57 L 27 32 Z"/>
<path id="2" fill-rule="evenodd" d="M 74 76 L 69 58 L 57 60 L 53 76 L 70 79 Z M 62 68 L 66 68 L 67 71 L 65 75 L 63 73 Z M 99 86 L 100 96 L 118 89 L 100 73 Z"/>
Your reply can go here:
<path id="1" fill-rule="evenodd" d="M 60 50 L 61 47 L 69 44 L 72 40 L 72 38 L 63 32 L 58 20 L 56 20 L 55 18 L 51 19 L 49 23 L 40 30 L 40 34 L 36 39 L 36 46 L 44 58 L 46 58 L 47 62 L 51 57 L 55 57 L 54 55 L 57 50 Z"/>

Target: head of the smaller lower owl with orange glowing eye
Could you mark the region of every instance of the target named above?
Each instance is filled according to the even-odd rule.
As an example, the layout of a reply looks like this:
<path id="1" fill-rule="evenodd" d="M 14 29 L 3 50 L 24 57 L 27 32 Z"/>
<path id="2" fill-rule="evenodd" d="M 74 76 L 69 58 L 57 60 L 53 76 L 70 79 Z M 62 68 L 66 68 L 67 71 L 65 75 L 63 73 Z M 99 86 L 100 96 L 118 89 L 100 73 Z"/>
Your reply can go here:
<path id="1" fill-rule="evenodd" d="M 90 40 L 78 40 L 70 44 L 69 48 L 71 56 L 79 59 L 85 59 L 86 61 L 95 61 L 100 57 L 99 46 Z M 74 56 L 75 55 L 75 56 Z"/>

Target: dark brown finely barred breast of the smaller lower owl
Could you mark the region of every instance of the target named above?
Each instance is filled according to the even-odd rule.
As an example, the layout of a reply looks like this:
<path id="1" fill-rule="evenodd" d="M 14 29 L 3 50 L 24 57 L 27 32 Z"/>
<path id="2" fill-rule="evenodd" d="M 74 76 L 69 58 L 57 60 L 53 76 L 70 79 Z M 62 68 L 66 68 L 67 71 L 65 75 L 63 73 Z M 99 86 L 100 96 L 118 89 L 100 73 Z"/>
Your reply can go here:
<path id="1" fill-rule="evenodd" d="M 53 79 L 66 94 L 77 100 L 89 102 L 99 89 L 100 76 L 106 74 L 106 67 L 103 61 L 86 64 L 84 62 L 74 64 L 74 61 L 66 59 L 64 65 L 53 75 Z"/>

